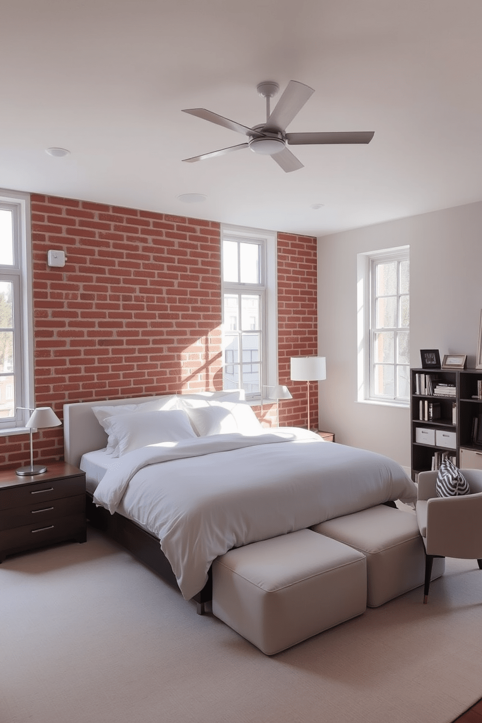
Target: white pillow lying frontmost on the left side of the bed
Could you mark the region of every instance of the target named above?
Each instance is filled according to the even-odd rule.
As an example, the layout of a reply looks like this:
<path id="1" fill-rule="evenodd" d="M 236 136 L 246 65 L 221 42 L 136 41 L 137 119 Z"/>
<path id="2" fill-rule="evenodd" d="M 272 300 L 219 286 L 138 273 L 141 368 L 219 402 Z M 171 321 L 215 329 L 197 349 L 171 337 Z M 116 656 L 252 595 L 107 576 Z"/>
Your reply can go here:
<path id="1" fill-rule="evenodd" d="M 119 440 L 119 457 L 158 442 L 181 442 L 196 439 L 183 409 L 138 411 L 108 419 L 109 432 Z"/>

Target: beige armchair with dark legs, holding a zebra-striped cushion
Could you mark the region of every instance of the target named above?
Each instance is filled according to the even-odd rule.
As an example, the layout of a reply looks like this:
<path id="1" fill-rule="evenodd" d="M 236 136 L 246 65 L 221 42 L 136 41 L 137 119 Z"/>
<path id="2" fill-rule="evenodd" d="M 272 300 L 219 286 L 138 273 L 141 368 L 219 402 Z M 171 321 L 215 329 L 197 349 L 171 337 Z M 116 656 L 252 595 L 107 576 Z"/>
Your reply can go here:
<path id="1" fill-rule="evenodd" d="M 482 470 L 462 469 L 470 495 L 437 497 L 438 472 L 418 474 L 417 522 L 425 545 L 423 602 L 429 598 L 434 557 L 477 560 L 482 570 Z"/>

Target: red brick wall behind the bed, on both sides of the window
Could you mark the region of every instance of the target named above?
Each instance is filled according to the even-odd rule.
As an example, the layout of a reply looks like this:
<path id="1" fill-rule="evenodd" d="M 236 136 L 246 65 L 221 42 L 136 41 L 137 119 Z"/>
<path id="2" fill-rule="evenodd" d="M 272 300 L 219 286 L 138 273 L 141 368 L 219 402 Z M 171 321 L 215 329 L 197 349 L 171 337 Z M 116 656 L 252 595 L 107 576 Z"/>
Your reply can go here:
<path id="1" fill-rule="evenodd" d="M 222 388 L 219 223 L 38 194 L 31 205 L 37 406 L 62 419 L 67 402 Z M 317 353 L 316 239 L 279 234 L 278 245 L 280 384 L 295 397 L 280 424 L 306 424 L 289 356 Z M 63 268 L 47 265 L 48 249 L 64 250 Z M 34 443 L 36 457 L 62 458 L 61 428 Z M 28 436 L 0 449 L 16 466 Z"/>

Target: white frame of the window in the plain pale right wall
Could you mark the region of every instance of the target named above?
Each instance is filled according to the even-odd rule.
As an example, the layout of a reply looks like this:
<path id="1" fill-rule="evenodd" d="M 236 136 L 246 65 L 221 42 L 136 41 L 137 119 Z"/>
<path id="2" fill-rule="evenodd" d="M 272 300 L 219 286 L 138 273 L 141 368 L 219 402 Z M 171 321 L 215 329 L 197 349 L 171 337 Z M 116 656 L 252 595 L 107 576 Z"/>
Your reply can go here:
<path id="1" fill-rule="evenodd" d="M 382 406 L 409 407 L 408 398 L 387 398 L 376 395 L 373 391 L 374 362 L 373 336 L 374 336 L 374 279 L 373 273 L 376 263 L 384 261 L 410 260 L 410 246 L 400 246 L 390 249 L 358 254 L 358 284 L 357 284 L 357 327 L 358 327 L 358 401 L 380 404 Z M 405 330 L 405 329 L 404 329 Z M 410 333 L 410 326 L 408 327 Z M 395 351 L 396 354 L 396 351 Z"/>

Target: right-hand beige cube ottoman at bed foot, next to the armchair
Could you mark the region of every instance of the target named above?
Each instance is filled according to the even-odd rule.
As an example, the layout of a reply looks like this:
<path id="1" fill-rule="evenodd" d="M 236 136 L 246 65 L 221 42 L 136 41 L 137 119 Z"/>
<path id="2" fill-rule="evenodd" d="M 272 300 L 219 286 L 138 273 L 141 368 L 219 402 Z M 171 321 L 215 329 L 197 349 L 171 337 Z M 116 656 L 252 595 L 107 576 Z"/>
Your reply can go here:
<path id="1" fill-rule="evenodd" d="M 415 514 L 378 505 L 327 520 L 312 529 L 366 555 L 369 607 L 378 607 L 423 585 L 425 550 Z M 444 570 L 444 559 L 434 560 L 432 580 L 443 575 Z"/>

